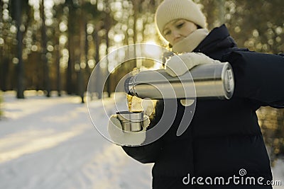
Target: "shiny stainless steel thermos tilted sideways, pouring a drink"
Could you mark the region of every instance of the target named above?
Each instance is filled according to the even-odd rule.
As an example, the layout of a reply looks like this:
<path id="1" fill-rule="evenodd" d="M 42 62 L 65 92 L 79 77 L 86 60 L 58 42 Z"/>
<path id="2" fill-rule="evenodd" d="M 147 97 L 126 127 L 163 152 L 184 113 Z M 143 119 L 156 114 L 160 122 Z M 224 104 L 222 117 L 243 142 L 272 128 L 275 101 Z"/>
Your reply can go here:
<path id="1" fill-rule="evenodd" d="M 124 88 L 139 98 L 229 99 L 234 93 L 234 74 L 228 62 L 202 64 L 177 77 L 165 69 L 146 70 L 127 78 Z"/>

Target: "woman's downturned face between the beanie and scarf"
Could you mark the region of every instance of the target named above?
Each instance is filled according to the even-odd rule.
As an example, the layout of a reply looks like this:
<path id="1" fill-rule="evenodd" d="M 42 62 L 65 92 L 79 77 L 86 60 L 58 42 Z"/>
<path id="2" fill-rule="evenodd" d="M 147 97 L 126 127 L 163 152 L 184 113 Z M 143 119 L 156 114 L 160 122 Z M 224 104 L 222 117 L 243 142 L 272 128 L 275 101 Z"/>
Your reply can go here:
<path id="1" fill-rule="evenodd" d="M 187 35 L 197 30 L 197 25 L 185 19 L 177 19 L 170 21 L 165 25 L 163 35 L 170 42 L 170 45 L 175 45 Z"/>

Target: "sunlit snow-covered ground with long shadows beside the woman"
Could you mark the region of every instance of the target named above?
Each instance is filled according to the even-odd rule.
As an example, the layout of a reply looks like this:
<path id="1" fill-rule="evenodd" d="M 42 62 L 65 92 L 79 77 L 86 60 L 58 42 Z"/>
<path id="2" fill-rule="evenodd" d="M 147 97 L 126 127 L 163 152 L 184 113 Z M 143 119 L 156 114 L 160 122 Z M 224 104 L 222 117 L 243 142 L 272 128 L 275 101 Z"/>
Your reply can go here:
<path id="1" fill-rule="evenodd" d="M 104 139 L 79 97 L 46 98 L 29 92 L 26 99 L 19 100 L 12 91 L 3 94 L 0 188 L 151 188 L 153 165 L 138 163 Z M 92 107 L 98 114 L 104 113 L 100 101 L 94 101 Z M 99 120 L 107 121 L 104 117 Z M 284 185 L 283 161 L 276 162 L 273 176 Z"/>

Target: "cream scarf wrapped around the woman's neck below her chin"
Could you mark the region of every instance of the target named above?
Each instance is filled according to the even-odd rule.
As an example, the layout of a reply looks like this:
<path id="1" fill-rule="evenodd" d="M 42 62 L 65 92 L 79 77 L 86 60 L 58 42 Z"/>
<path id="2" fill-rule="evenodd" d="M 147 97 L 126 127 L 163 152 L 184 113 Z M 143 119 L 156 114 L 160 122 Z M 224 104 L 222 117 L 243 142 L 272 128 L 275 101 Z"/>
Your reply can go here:
<path id="1" fill-rule="evenodd" d="M 195 48 L 200 45 L 200 42 L 206 38 L 209 31 L 207 29 L 197 29 L 194 32 L 190 33 L 186 38 L 183 38 L 175 45 L 173 45 L 173 52 L 183 53 L 183 52 L 192 52 Z"/>

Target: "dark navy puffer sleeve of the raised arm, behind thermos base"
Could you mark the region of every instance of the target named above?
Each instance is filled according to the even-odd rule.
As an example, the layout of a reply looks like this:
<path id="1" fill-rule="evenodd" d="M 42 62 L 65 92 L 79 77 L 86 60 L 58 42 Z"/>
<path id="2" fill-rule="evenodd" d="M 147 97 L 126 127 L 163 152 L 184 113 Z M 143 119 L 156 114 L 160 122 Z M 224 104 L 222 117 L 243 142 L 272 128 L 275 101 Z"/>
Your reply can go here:
<path id="1" fill-rule="evenodd" d="M 284 108 L 284 57 L 258 52 L 231 52 L 237 98 Z"/>

